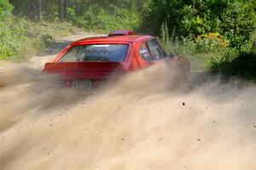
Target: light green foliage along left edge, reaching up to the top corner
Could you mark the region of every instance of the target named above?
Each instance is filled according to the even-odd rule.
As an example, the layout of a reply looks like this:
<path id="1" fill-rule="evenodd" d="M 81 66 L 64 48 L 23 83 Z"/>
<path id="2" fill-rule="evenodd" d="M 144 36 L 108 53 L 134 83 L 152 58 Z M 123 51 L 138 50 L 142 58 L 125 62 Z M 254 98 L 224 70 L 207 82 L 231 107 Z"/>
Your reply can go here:
<path id="1" fill-rule="evenodd" d="M 0 59 L 26 59 L 72 29 L 67 23 L 38 24 L 17 18 L 8 1 L 0 2 Z"/>

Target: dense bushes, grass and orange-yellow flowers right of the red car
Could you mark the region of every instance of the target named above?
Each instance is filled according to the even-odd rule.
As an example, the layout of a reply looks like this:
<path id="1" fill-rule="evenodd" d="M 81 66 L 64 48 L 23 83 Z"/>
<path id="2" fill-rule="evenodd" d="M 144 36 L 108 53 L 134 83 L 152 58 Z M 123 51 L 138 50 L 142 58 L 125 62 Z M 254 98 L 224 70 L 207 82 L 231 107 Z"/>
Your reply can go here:
<path id="1" fill-rule="evenodd" d="M 160 35 L 169 52 L 189 57 L 194 70 L 255 81 L 255 1 L 166 2 L 149 3 L 146 14 L 154 21 L 144 27 Z"/>

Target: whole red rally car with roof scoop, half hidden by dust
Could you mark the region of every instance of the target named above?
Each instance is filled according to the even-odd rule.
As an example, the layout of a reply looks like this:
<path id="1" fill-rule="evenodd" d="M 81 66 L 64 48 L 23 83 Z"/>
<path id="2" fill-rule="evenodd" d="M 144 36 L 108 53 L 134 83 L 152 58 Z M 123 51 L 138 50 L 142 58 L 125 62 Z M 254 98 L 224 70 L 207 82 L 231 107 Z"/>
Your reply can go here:
<path id="1" fill-rule="evenodd" d="M 166 54 L 154 37 L 133 31 L 112 31 L 108 37 L 90 37 L 71 43 L 44 71 L 59 74 L 65 87 L 96 88 L 114 73 L 147 68 L 157 62 L 180 62 L 189 71 L 189 60 Z"/>

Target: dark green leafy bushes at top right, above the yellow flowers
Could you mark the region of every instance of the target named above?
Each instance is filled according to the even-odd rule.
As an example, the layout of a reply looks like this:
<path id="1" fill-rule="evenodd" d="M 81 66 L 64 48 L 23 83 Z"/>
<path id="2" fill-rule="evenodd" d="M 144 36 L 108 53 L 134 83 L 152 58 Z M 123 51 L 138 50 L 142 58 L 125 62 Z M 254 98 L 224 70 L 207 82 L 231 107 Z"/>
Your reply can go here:
<path id="1" fill-rule="evenodd" d="M 216 32 L 230 41 L 231 48 L 241 48 L 255 29 L 255 8 L 254 0 L 151 0 L 144 9 L 143 28 L 159 35 L 161 24 L 167 22 L 170 31 L 176 28 L 177 36 Z"/>

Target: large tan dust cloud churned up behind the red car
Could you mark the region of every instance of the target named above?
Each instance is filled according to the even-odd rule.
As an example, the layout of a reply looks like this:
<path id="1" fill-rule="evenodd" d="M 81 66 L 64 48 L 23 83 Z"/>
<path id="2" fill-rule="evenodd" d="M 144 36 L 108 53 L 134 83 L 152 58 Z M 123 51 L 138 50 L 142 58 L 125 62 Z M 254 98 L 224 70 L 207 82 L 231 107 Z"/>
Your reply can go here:
<path id="1" fill-rule="evenodd" d="M 0 169 L 255 169 L 256 87 L 166 65 L 96 94 L 0 63 Z"/>

